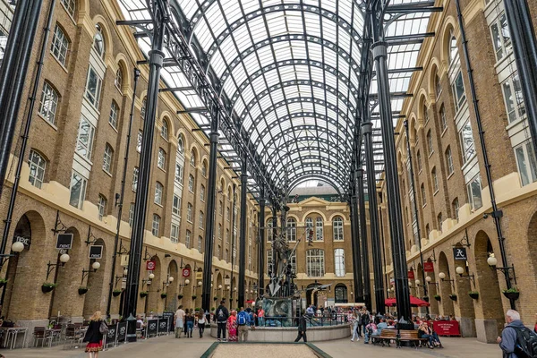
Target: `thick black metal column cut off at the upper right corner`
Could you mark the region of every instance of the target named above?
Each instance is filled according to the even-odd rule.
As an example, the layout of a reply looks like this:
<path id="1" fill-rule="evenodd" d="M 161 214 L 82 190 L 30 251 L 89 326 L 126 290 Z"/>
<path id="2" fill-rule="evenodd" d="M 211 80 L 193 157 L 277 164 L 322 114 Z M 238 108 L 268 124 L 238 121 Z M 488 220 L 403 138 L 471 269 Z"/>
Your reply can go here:
<path id="1" fill-rule="evenodd" d="M 533 150 L 537 153 L 537 45 L 532 13 L 526 0 L 504 0 L 509 34 L 513 42 L 518 79 L 524 107 L 532 133 Z M 503 254 L 502 254 L 503 256 Z M 507 261 L 503 260 L 507 268 Z"/>

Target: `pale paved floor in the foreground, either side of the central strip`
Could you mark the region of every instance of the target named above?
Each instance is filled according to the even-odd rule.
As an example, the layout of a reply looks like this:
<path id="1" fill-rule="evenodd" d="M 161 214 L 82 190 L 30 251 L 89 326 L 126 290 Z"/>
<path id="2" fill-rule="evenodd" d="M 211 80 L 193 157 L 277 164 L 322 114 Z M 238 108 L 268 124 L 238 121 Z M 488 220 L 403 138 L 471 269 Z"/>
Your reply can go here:
<path id="1" fill-rule="evenodd" d="M 172 336 L 151 338 L 137 343 L 121 345 L 102 352 L 99 358 L 199 358 L 209 346 L 215 342 L 214 338 L 180 338 Z M 404 347 L 380 347 L 374 345 L 364 345 L 362 341 L 351 342 L 350 339 L 339 339 L 331 342 L 316 343 L 320 349 L 334 358 L 346 357 L 371 357 L 386 358 L 395 356 L 397 358 L 501 358 L 501 351 L 498 345 L 487 345 L 477 342 L 474 338 L 442 338 L 444 349 L 428 349 Z M 13 351 L 0 350 L 6 358 L 86 358 L 83 348 L 76 350 L 63 350 L 62 346 L 52 348 L 27 348 Z M 273 357 L 268 352 L 270 357 Z M 255 356 L 261 357 L 260 354 Z"/>

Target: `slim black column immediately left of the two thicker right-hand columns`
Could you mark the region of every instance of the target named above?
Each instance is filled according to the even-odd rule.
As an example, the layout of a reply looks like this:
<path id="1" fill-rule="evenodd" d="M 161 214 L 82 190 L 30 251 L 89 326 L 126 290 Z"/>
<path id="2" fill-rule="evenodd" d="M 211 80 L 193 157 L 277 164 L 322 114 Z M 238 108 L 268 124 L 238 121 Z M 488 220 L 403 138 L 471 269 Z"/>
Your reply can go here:
<path id="1" fill-rule="evenodd" d="M 368 181 L 371 178 L 368 178 Z M 356 170 L 356 186 L 358 187 L 358 207 L 360 214 L 360 238 L 362 240 L 362 274 L 363 302 L 371 310 L 371 271 L 369 267 L 369 249 L 367 244 L 367 220 L 365 217 L 365 193 L 363 192 L 363 169 Z"/>

